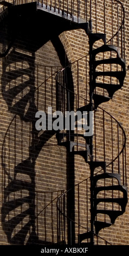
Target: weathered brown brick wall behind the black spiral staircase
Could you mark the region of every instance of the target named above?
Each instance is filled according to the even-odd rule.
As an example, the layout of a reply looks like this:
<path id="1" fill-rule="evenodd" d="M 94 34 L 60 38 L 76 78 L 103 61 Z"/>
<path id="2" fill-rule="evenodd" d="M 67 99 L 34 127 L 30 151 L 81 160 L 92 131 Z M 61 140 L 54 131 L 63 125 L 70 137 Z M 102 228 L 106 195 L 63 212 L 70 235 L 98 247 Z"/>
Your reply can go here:
<path id="1" fill-rule="evenodd" d="M 83 1 L 80 2 L 82 2 L 80 14 L 83 17 Z M 112 114 L 125 130 L 128 186 L 129 5 L 127 0 L 121 2 L 124 3 L 125 7 L 126 78 L 124 86 L 115 92 L 113 99 L 107 103 L 102 103 L 101 106 L 108 113 Z M 102 3 L 100 1 L 98 7 L 100 8 L 98 9 L 98 13 L 100 12 L 100 19 L 97 19 L 96 23 L 93 22 L 93 33 L 104 33 L 104 27 L 102 25 L 103 9 L 101 8 L 101 5 Z M 107 9 L 108 7 L 109 3 L 106 5 Z M 74 5 L 74 9 L 77 13 L 76 4 Z M 107 40 L 112 36 L 112 31 L 110 29 L 112 14 L 111 10 L 108 10 L 109 11 L 106 14 L 106 17 L 108 17 L 108 20 L 106 21 Z M 95 20 L 95 4 L 93 17 Z M 89 16 L 87 19 L 89 20 Z M 114 15 L 113 19 L 114 31 L 116 31 L 115 21 L 117 20 L 117 17 Z M 8 21 L 5 19 L 1 25 L 1 33 L 3 37 L 1 40 L 1 52 L 7 50 L 9 45 L 7 25 Z M 43 36 L 45 37 L 45 33 Z M 85 162 L 82 156 L 69 156 L 66 147 L 57 145 L 55 131 L 36 131 L 35 129 L 35 122 L 37 120 L 35 114 L 37 111 L 45 111 L 47 113 L 48 107 L 51 106 L 53 107 L 53 112 L 56 111 L 55 77 L 57 71 L 64 68 L 64 66 L 73 63 L 70 65 L 72 80 L 69 78 L 69 88 L 76 94 L 78 94 L 79 88 L 80 99 L 76 99 L 73 108 L 76 107 L 76 104 L 78 105 L 78 102 L 80 102 L 80 106 L 83 106 L 86 103 L 85 100 L 89 100 L 88 40 L 88 36 L 83 29 L 64 31 L 59 36 L 55 35 L 53 38 L 49 38 L 43 43 L 41 40 L 42 45 L 40 46 L 36 45 L 35 38 L 34 40 L 31 38 L 26 40 L 23 38 L 22 34 L 19 34 L 12 44 L 7 56 L 0 60 L 0 245 L 26 245 L 27 243 L 43 244 L 43 242 L 45 245 L 51 242 L 57 243 L 60 235 L 57 223 L 60 221 L 59 218 L 63 219 L 57 212 L 57 197 L 63 194 L 64 191 L 69 190 L 70 184 L 74 187 L 74 185 L 79 184 L 79 182 L 83 180 L 84 181 L 80 185 L 75 187 L 76 203 L 74 221 L 78 223 L 80 210 L 80 225 L 90 229 L 90 214 L 87 216 L 87 209 L 90 209 L 90 202 L 88 201 L 87 205 L 85 205 L 90 193 L 90 191 L 87 191 L 86 189 L 87 184 L 89 187 L 89 179 L 86 180 L 90 176 L 89 164 Z M 95 43 L 94 47 L 98 47 L 102 44 L 104 44 L 104 42 L 99 41 Z M 108 68 L 109 67 L 107 66 L 105 70 L 108 70 Z M 96 143 L 96 156 L 98 157 L 96 160 L 103 161 L 104 149 L 102 148 L 101 142 L 104 141 L 104 133 L 101 124 L 101 110 L 96 112 L 96 117 L 97 120 L 100 120 L 100 123 L 98 121 L 98 124 L 96 124 L 98 125 L 96 126 L 98 127 L 98 130 L 96 130 L 96 141 L 94 142 Z M 111 125 L 109 123 L 110 118 L 108 115 L 105 115 L 105 118 L 105 153 L 106 161 L 110 162 L 112 160 L 110 142 Z M 117 126 L 114 125 L 113 127 L 113 154 L 115 156 L 117 155 L 118 150 Z M 121 140 L 120 147 L 122 147 L 122 133 L 120 133 L 119 136 Z M 81 138 L 80 142 L 85 143 L 85 140 Z M 122 158 L 120 159 L 120 166 L 122 166 Z M 108 167 L 108 170 L 109 168 L 110 166 Z M 117 163 L 114 163 L 114 169 L 117 169 Z M 103 181 L 101 181 L 101 184 L 102 182 Z M 78 202 L 78 191 L 81 191 L 80 202 Z M 70 196 L 73 195 L 70 194 Z M 69 202 L 67 203 L 69 204 Z M 70 215 L 71 213 L 67 212 L 67 214 L 72 218 L 72 215 Z M 129 245 L 128 221 L 129 207 L 127 204 L 126 212 L 117 218 L 114 225 L 100 230 L 99 235 L 113 245 Z M 62 222 L 64 223 L 64 220 L 62 220 Z M 86 223 L 88 223 L 88 227 L 86 227 Z M 76 234 L 78 233 L 77 229 L 78 228 L 75 227 Z M 65 232 L 67 232 L 67 228 Z M 84 232 L 85 229 L 80 228 L 80 233 Z M 63 234 L 62 240 L 64 240 Z M 102 240 L 100 240 L 100 244 L 103 244 Z"/>

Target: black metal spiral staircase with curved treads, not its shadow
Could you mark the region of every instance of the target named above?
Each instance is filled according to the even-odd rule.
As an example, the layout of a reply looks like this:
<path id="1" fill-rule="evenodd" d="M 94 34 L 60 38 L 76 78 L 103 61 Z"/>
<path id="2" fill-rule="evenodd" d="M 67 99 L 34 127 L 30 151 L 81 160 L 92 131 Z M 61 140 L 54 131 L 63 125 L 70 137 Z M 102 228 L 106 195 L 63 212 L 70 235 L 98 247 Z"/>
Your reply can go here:
<path id="1" fill-rule="evenodd" d="M 126 75 L 126 66 L 125 66 L 125 59 L 120 57 L 120 47 L 115 46 L 115 45 L 108 45 L 106 44 L 106 34 L 99 34 L 99 33 L 89 33 L 89 87 L 90 87 L 90 91 L 89 94 L 91 94 L 91 98 L 90 98 L 90 102 L 88 104 L 86 104 L 85 106 L 81 106 L 78 109 L 76 109 L 77 111 L 81 111 L 83 113 L 83 111 L 87 111 L 89 113 L 89 111 L 96 111 L 99 107 L 99 105 L 101 103 L 107 102 L 109 100 L 112 99 L 113 95 L 115 92 L 117 92 L 117 90 L 121 89 L 121 87 L 124 84 L 124 78 Z M 102 41 L 104 42 L 104 45 L 95 48 L 95 50 L 93 49 L 93 44 L 102 39 Z M 96 60 L 96 55 L 99 53 L 103 54 L 104 57 L 104 53 L 111 53 L 110 54 L 110 58 L 104 58 L 101 60 Z M 115 57 L 112 57 L 112 53 L 115 53 Z M 116 56 L 117 55 L 117 56 Z M 98 71 L 97 68 L 99 65 L 105 65 L 105 64 L 109 64 L 111 66 L 111 70 L 108 71 Z M 118 70 L 113 70 L 112 69 L 112 65 L 116 64 L 117 66 L 120 66 L 120 69 Z M 105 78 L 106 76 L 111 77 L 112 78 L 117 78 L 117 82 L 112 82 L 111 83 L 106 83 L 106 82 L 98 82 L 98 77 L 102 77 L 102 80 L 104 81 L 103 78 Z M 60 84 L 60 82 L 59 82 Z M 58 82 L 57 82 L 57 86 L 58 86 Z M 66 88 L 67 85 L 65 85 Z M 96 93 L 96 88 L 101 88 L 106 90 L 106 92 L 108 93 L 108 96 L 105 96 L 105 93 L 103 94 L 98 94 Z M 90 96 L 89 96 L 90 97 Z M 59 104 L 60 105 L 60 104 Z M 106 166 L 107 163 L 106 161 L 94 161 L 93 160 L 93 153 L 90 150 L 92 148 L 92 142 L 91 138 L 89 137 L 84 137 L 82 134 L 77 134 L 77 133 L 70 133 L 69 132 L 69 138 L 67 139 L 67 141 L 62 142 L 62 139 L 64 137 L 67 137 L 67 133 L 57 133 L 57 141 L 59 143 L 59 145 L 63 145 L 65 147 L 67 147 L 67 149 L 69 150 L 69 152 L 73 155 L 81 155 L 83 156 L 83 158 L 85 159 L 85 161 L 87 163 L 89 163 L 89 167 L 91 169 L 91 222 L 95 227 L 95 233 L 98 234 L 99 231 L 101 229 L 104 229 L 106 227 L 110 227 L 112 224 L 114 224 L 115 220 L 118 218 L 118 216 L 121 216 L 122 214 L 124 214 L 125 209 L 126 209 L 126 204 L 127 204 L 127 186 L 126 184 L 121 184 L 121 176 L 122 174 L 120 174 L 120 170 L 118 171 L 118 173 L 113 172 L 109 172 L 106 170 Z M 84 137 L 86 140 L 86 150 L 74 150 L 74 146 L 78 144 L 78 146 L 81 146 L 81 144 L 74 142 L 73 139 L 71 138 L 76 138 L 76 137 Z M 91 161 L 88 161 L 88 156 L 89 159 L 91 159 Z M 113 160 L 114 161 L 114 160 Z M 119 164 L 119 163 L 118 163 Z M 101 174 L 95 174 L 95 169 L 101 167 L 101 170 L 103 171 L 103 173 Z M 112 168 L 111 168 L 112 169 Z M 108 186 L 101 186 L 98 185 L 98 181 L 100 181 L 101 179 L 104 180 L 104 184 L 106 184 L 106 181 L 108 181 L 109 179 L 111 180 L 115 180 L 117 181 L 117 185 L 115 182 L 115 185 L 113 184 L 112 181 L 112 185 L 108 185 Z M 114 191 L 118 191 L 118 194 L 121 192 L 122 196 L 116 196 L 115 198 L 112 197 L 105 197 L 105 193 L 106 191 L 109 192 L 113 192 Z M 101 194 L 101 196 L 98 197 L 99 192 L 103 192 Z M 102 206 L 100 209 L 98 209 L 98 205 L 102 203 Z M 106 209 L 105 205 L 106 203 L 111 203 L 112 204 L 112 209 L 108 208 Z M 118 209 L 115 210 L 114 209 L 114 204 L 119 205 Z M 110 221 L 106 221 L 106 218 L 104 218 L 103 221 L 98 221 L 97 216 L 98 215 L 108 215 Z M 93 231 L 93 226 L 92 226 L 92 231 Z M 83 234 L 79 234 L 79 241 L 82 242 L 85 239 L 88 239 L 91 237 L 91 233 L 83 233 Z M 93 239 L 92 239 L 93 242 Z"/>

